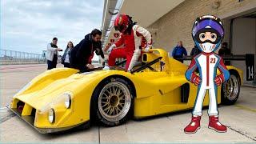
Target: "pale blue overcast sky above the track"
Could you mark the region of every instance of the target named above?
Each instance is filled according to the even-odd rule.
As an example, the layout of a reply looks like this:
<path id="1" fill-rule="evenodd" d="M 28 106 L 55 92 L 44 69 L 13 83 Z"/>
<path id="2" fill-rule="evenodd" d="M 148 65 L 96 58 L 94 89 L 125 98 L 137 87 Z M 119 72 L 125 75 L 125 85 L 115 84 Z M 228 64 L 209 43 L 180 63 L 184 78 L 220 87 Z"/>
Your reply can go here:
<path id="1" fill-rule="evenodd" d="M 1 49 L 42 54 L 101 28 L 104 0 L 1 0 Z"/>

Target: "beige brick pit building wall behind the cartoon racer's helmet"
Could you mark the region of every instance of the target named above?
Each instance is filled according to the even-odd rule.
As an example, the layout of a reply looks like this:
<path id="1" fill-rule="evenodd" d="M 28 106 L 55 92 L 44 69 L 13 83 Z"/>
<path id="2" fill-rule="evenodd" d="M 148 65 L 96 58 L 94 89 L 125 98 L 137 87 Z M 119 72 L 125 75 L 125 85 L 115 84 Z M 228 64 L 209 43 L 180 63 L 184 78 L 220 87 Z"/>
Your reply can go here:
<path id="1" fill-rule="evenodd" d="M 220 18 L 226 18 L 223 23 L 226 27 L 225 41 L 228 41 L 230 18 L 255 7 L 256 0 L 243 0 L 242 2 L 238 2 L 238 0 L 186 0 L 151 24 L 148 29 L 154 30 L 151 31 L 154 47 L 162 47 L 169 51 L 177 45 L 179 40 L 182 40 L 190 54 L 190 50 L 194 46 L 191 29 L 195 18 L 204 14 L 214 14 Z"/>

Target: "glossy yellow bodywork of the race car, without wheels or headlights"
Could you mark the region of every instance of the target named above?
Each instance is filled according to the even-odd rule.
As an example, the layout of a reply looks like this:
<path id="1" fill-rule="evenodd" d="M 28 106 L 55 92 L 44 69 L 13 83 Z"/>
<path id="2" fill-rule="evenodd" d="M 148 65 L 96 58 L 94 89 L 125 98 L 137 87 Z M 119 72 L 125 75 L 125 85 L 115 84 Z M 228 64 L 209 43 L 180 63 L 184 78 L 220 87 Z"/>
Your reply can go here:
<path id="1" fill-rule="evenodd" d="M 191 109 L 197 94 L 197 86 L 185 78 L 187 66 L 169 58 L 165 50 L 154 49 L 142 54 L 142 62 L 151 62 L 162 57 L 151 67 L 131 74 L 122 70 L 97 70 L 78 74 L 78 70 L 57 68 L 38 75 L 18 94 L 14 95 L 11 108 L 18 108 L 19 101 L 25 103 L 22 116 L 35 109 L 34 126 L 38 128 L 62 128 L 78 125 L 90 120 L 90 102 L 98 84 L 105 78 L 126 78 L 134 85 L 134 117 L 144 118 L 178 110 Z M 236 70 L 242 78 L 242 71 Z M 218 72 L 219 73 L 219 72 Z M 182 102 L 181 86 L 189 85 L 187 102 Z M 70 108 L 65 107 L 65 93 L 71 94 Z M 218 103 L 221 102 L 221 87 L 218 87 Z M 204 106 L 209 103 L 208 94 Z M 51 109 L 55 111 L 55 122 L 48 120 Z"/>

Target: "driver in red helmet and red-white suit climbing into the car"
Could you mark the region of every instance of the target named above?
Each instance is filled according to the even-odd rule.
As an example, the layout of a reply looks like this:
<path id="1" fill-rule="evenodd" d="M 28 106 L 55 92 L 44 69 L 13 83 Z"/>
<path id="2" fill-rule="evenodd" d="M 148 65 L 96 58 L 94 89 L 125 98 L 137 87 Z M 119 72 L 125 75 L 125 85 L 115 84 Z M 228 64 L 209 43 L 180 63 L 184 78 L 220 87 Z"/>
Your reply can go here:
<path id="1" fill-rule="evenodd" d="M 121 34 L 117 42 L 104 49 L 110 54 L 108 65 L 114 66 L 115 58 L 126 58 L 126 70 L 130 71 L 141 56 L 142 39 L 146 39 L 146 52 L 152 47 L 151 34 L 142 26 L 136 25 L 136 22 L 133 22 L 126 14 L 118 15 L 114 20 L 114 29 L 120 31 Z M 122 47 L 114 49 L 120 46 Z"/>

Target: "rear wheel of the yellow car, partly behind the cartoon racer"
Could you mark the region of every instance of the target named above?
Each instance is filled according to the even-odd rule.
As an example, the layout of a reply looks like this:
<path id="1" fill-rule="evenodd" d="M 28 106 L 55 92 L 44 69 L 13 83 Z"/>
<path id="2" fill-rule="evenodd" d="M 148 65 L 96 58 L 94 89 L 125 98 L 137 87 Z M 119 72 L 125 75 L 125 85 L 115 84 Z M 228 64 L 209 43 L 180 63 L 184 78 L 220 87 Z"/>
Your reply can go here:
<path id="1" fill-rule="evenodd" d="M 230 78 L 222 84 L 222 105 L 233 105 L 240 93 L 240 77 L 236 71 L 230 71 Z"/>

